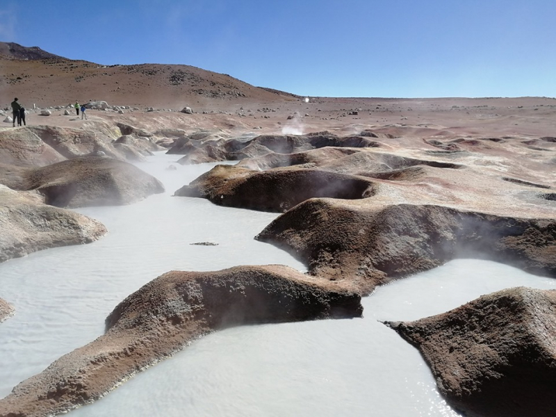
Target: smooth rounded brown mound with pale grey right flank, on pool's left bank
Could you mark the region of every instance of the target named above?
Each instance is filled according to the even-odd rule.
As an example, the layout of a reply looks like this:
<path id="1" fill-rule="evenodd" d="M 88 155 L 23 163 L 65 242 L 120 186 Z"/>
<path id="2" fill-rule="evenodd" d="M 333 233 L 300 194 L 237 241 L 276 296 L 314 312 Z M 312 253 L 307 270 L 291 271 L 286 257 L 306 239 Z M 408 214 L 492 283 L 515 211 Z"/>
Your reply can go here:
<path id="1" fill-rule="evenodd" d="M 138 167 L 106 156 L 83 156 L 47 167 L 29 168 L 17 178 L 0 167 L 0 182 L 22 190 L 38 190 L 45 202 L 59 207 L 131 204 L 163 193 L 158 179 Z M 9 181 L 9 182 L 8 182 Z"/>

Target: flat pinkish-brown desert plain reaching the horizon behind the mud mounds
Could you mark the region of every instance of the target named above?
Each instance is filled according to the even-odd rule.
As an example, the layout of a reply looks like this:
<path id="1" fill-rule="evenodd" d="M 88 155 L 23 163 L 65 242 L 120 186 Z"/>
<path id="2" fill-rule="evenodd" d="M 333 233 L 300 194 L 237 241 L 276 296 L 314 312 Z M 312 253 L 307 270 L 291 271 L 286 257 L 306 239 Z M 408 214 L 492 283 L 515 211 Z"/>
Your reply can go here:
<path id="1" fill-rule="evenodd" d="M 104 97 L 100 97 L 104 99 Z M 19 101 L 27 107 L 28 99 L 19 95 Z M 54 104 L 54 103 L 52 103 Z M 115 104 L 108 102 L 108 104 Z M 119 105 L 132 105 L 117 103 Z M 190 105 L 194 115 L 177 112 Z M 9 103 L 6 104 L 9 106 Z M 31 104 L 32 106 L 32 104 Z M 233 133 L 309 133 L 328 130 L 339 134 L 359 133 L 363 129 L 392 131 L 400 128 L 404 136 L 422 138 L 502 138 L 512 136 L 523 140 L 543 136 L 556 136 L 556 99 L 484 98 L 484 99 L 354 99 L 311 98 L 256 101 L 212 100 L 205 106 L 184 102 L 172 112 L 142 108 L 125 111 L 118 115 L 110 111 L 87 112 L 89 120 L 113 120 L 147 130 L 180 128 L 187 132 L 199 129 L 226 129 Z M 146 106 L 145 106 L 146 107 Z M 267 109 L 270 109 L 268 111 Z M 357 111 L 357 115 L 351 115 Z M 202 112 L 208 112 L 202 114 Z M 214 112 L 214 113 L 211 113 Z M 10 113 L 9 111 L 6 113 Z M 51 116 L 41 116 L 31 111 L 27 124 L 49 124 L 88 129 L 90 123 L 72 115 L 64 116 L 63 110 L 52 111 Z M 297 113 L 297 117 L 295 117 Z M 288 116 L 294 116 L 288 120 Z M 10 128 L 3 123 L 1 127 Z M 259 132 L 256 132 L 259 130 Z M 434 132 L 434 134 L 433 134 Z M 396 135 L 399 136 L 399 135 Z"/>

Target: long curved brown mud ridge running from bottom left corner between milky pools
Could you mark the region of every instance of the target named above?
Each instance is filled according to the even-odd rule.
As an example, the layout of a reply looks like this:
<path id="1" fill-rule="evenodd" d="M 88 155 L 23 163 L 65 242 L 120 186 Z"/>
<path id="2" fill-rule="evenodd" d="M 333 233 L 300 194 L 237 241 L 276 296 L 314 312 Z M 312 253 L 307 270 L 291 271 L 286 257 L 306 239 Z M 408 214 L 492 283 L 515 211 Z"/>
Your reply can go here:
<path id="1" fill-rule="evenodd" d="M 360 317 L 360 302 L 281 265 L 167 272 L 116 306 L 103 336 L 15 386 L 0 400 L 0 417 L 45 417 L 93 402 L 213 330 Z"/>

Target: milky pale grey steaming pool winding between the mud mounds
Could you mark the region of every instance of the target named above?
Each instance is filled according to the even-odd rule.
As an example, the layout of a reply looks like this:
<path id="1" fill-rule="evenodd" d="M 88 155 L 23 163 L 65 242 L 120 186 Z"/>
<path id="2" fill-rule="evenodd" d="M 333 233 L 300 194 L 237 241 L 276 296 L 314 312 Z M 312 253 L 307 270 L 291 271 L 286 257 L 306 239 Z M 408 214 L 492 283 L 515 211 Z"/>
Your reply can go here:
<path id="1" fill-rule="evenodd" d="M 171 197 L 215 164 L 167 170 L 179 156 L 137 165 L 166 193 L 130 206 L 78 211 L 108 235 L 0 264 L 0 397 L 104 332 L 117 303 L 168 270 L 281 263 L 306 267 L 253 239 L 276 213 Z M 190 243 L 212 242 L 218 246 Z M 556 280 L 458 259 L 363 299 L 364 318 L 234 327 L 210 334 L 71 416 L 459 416 L 441 398 L 418 351 L 379 320 L 414 320 L 513 286 Z"/>

